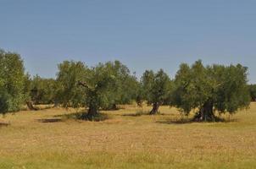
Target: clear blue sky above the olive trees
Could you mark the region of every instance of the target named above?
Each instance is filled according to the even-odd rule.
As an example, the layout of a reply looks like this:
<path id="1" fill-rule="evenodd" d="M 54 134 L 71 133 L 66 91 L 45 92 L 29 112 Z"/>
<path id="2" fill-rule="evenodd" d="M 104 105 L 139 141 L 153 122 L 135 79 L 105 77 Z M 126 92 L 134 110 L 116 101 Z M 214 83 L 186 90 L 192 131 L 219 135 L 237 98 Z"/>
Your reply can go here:
<path id="1" fill-rule="evenodd" d="M 242 63 L 256 83 L 254 0 L 0 0 L 0 48 L 19 52 L 30 74 L 57 63 L 118 59 L 141 75 L 180 63 Z"/>

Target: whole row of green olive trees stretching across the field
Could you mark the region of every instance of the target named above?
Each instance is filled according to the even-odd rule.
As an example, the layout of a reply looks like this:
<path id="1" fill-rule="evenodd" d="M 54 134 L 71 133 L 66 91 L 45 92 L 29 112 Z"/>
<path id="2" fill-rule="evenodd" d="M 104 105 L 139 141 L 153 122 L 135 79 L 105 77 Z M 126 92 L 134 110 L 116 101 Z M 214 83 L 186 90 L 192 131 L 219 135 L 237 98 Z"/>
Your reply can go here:
<path id="1" fill-rule="evenodd" d="M 256 101 L 256 85 L 248 85 L 248 68 L 241 64 L 204 66 L 199 60 L 191 66 L 182 63 L 170 79 L 163 69 L 146 70 L 140 80 L 120 61 L 85 63 L 64 61 L 58 64 L 56 79 L 44 79 L 25 73 L 19 54 L 0 51 L 0 113 L 17 112 L 25 104 L 87 107 L 84 117 L 97 116 L 100 109 L 117 109 L 136 101 L 153 106 L 177 107 L 195 120 L 213 121 L 218 113 L 235 113 Z"/>

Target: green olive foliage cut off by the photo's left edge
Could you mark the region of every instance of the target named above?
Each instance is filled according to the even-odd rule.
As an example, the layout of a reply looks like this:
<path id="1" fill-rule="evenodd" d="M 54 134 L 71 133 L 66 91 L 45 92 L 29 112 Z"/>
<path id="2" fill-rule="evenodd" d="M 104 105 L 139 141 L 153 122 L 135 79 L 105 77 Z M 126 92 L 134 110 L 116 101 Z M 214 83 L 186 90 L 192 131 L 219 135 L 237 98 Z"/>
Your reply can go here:
<path id="1" fill-rule="evenodd" d="M 24 104 L 25 77 L 19 54 L 0 50 L 0 113 L 19 111 Z"/>

